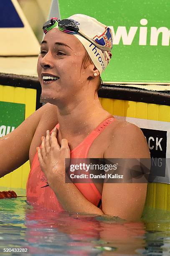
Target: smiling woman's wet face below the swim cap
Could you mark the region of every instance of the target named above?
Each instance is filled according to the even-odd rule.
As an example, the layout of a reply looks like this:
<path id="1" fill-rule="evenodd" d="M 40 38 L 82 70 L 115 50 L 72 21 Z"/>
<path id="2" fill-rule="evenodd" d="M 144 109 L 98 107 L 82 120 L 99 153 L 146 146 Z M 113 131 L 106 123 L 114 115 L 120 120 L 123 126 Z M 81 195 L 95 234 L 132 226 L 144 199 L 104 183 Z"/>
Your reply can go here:
<path id="1" fill-rule="evenodd" d="M 42 98 L 54 104 L 59 99 L 77 95 L 91 75 L 84 69 L 84 46 L 73 35 L 53 28 L 44 37 L 37 71 Z"/>

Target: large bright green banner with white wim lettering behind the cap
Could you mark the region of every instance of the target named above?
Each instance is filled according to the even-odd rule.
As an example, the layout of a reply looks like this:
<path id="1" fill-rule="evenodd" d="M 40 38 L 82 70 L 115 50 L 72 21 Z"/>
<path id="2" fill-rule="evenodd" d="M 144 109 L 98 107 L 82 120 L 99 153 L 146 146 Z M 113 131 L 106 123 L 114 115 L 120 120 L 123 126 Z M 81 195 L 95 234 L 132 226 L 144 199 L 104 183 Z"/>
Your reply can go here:
<path id="1" fill-rule="evenodd" d="M 75 13 L 113 27 L 106 82 L 170 83 L 169 0 L 59 0 L 61 18 Z"/>

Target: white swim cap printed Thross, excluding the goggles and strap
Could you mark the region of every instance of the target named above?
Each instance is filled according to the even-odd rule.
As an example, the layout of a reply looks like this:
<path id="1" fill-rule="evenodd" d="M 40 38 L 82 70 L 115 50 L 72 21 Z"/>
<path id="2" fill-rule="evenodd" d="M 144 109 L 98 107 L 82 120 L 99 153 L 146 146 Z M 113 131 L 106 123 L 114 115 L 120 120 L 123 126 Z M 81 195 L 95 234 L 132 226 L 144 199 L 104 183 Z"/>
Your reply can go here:
<path id="1" fill-rule="evenodd" d="M 110 51 L 112 50 L 113 33 L 111 28 L 100 23 L 95 18 L 84 14 L 75 14 L 68 19 L 73 20 L 85 36 L 93 39 L 101 46 L 109 47 Z M 112 57 L 111 52 L 97 48 L 96 45 L 92 44 L 79 33 L 74 34 L 74 36 L 81 41 L 81 44 L 83 44 L 95 67 L 101 74 L 109 64 L 110 58 Z"/>

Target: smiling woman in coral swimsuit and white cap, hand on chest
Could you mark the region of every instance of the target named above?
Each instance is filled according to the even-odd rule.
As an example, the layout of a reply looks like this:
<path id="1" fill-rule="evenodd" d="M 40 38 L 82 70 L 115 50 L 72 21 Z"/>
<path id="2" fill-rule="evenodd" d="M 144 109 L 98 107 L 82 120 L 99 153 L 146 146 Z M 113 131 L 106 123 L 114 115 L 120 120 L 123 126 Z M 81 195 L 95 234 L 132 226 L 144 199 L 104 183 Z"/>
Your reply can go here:
<path id="1" fill-rule="evenodd" d="M 30 204 L 56 211 L 140 218 L 146 182 L 65 182 L 65 158 L 150 157 L 140 128 L 116 120 L 99 102 L 100 74 L 111 58 L 111 29 L 76 14 L 61 21 L 53 18 L 43 30 L 46 35 L 37 69 L 47 103 L 5 140 L 1 138 L 1 177 L 29 159 Z"/>

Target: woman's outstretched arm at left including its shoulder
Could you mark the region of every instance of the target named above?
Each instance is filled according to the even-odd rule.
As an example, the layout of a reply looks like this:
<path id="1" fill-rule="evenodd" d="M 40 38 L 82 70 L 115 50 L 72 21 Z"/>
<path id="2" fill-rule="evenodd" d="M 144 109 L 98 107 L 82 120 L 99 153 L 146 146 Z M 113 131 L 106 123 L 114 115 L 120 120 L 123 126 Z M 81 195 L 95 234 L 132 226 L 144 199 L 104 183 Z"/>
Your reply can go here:
<path id="1" fill-rule="evenodd" d="M 44 132 L 50 126 L 53 128 L 53 125 L 56 125 L 55 109 L 51 104 L 44 105 L 26 118 L 14 131 L 0 138 L 1 177 L 17 169 L 28 161 L 30 155 L 33 156 L 36 153 L 34 146 L 41 143 L 43 135 L 41 130 Z"/>

